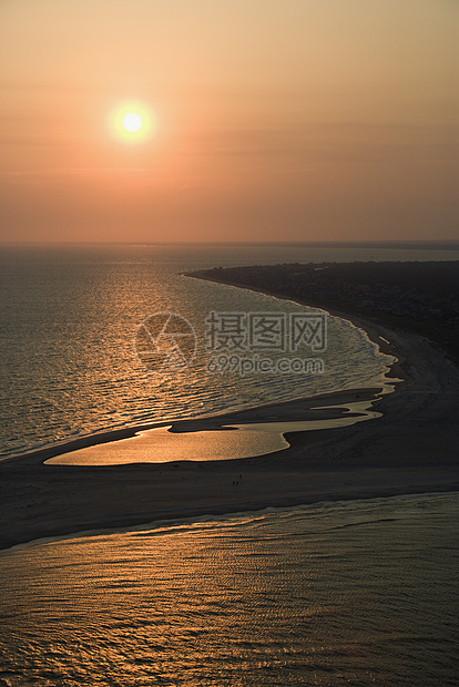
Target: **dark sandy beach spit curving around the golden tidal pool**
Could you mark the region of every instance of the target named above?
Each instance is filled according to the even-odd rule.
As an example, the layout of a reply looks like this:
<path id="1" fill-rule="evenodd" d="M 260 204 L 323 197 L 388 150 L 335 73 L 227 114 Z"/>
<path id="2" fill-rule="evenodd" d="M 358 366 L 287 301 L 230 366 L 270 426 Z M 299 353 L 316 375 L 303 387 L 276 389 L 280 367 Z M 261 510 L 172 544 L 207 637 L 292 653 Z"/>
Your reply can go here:
<path id="1" fill-rule="evenodd" d="M 397 358 L 395 391 L 353 389 L 208 419 L 173 430 L 326 417 L 338 404 L 374 400 L 381 417 L 351 427 L 287 434 L 289 448 L 225 461 L 57 465 L 44 449 L 0 462 L 0 548 L 81 531 L 329 500 L 459 490 L 459 370 L 425 338 L 335 312 Z M 328 414 L 327 414 L 328 413 Z M 163 423 L 164 425 L 169 423 Z M 152 425 L 159 427 L 159 425 Z M 115 442 L 134 429 L 98 435 Z M 78 440 L 74 449 L 94 443 Z M 113 444 L 115 445 L 115 444 Z"/>

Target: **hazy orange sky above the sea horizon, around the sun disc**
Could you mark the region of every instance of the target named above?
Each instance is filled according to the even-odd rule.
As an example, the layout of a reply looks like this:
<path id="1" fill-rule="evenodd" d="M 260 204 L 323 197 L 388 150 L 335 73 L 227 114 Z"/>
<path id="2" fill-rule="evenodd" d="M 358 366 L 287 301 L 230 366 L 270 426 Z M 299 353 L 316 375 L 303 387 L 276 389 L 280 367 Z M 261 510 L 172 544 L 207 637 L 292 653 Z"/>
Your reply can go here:
<path id="1" fill-rule="evenodd" d="M 0 27 L 2 240 L 459 238 L 458 0 L 0 0 Z"/>

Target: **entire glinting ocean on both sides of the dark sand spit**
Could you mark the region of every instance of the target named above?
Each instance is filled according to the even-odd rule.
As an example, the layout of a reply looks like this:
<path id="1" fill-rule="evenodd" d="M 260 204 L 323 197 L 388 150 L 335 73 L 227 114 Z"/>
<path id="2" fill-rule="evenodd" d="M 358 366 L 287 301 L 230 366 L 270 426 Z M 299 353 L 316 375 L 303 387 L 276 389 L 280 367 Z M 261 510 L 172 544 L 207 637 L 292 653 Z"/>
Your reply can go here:
<path id="1" fill-rule="evenodd" d="M 384 383 L 391 358 L 339 318 L 326 350 L 308 353 L 323 358 L 322 373 L 211 373 L 208 312 L 310 310 L 184 271 L 456 255 L 426 245 L 3 247 L 1 455 Z M 135 331 L 155 312 L 196 332 L 186 370 L 157 375 L 139 360 Z M 458 494 L 322 503 L 0 552 L 0 687 L 457 685 L 458 510 Z"/>

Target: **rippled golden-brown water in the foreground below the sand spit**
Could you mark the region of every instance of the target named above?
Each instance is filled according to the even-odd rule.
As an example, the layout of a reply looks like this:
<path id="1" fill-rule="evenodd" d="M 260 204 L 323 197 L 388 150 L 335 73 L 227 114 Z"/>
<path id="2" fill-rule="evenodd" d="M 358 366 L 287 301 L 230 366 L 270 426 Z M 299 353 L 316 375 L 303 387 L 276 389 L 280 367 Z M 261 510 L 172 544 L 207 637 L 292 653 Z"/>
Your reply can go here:
<path id="1" fill-rule="evenodd" d="M 457 685 L 458 494 L 0 555 L 2 687 Z"/>

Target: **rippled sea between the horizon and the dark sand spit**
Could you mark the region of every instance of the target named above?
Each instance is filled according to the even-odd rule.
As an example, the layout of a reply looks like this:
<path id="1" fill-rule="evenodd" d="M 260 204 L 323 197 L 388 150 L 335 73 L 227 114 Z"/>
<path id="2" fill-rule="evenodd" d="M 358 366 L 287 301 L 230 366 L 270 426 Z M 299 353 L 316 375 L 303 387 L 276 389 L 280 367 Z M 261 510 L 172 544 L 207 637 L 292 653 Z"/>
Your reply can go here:
<path id="1" fill-rule="evenodd" d="M 3 248 L 0 455 L 126 424 L 380 383 L 389 359 L 361 331 L 337 318 L 329 320 L 324 375 L 267 379 L 206 371 L 204 320 L 211 310 L 305 310 L 181 273 L 217 265 L 358 257 L 356 252 L 335 253 L 259 246 Z M 369 252 L 363 254 L 370 257 Z M 157 311 L 176 312 L 195 328 L 197 355 L 184 373 L 161 377 L 135 356 L 136 328 Z M 312 351 L 304 355 L 310 357 Z"/>

